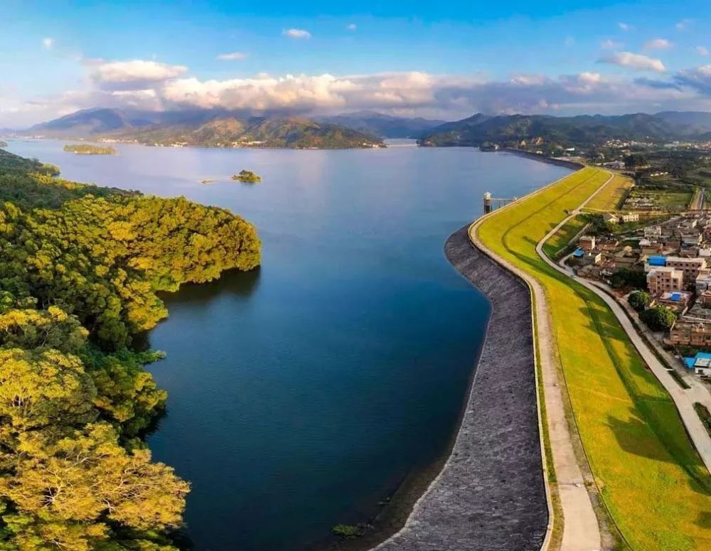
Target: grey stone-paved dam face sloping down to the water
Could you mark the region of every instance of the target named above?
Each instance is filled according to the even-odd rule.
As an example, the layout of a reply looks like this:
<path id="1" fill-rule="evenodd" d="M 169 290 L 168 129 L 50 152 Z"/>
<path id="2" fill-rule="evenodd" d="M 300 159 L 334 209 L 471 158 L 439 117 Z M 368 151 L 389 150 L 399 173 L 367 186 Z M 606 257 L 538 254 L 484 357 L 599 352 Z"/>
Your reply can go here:
<path id="1" fill-rule="evenodd" d="M 534 551 L 548 520 L 528 287 L 471 245 L 445 254 L 492 304 L 479 364 L 447 464 L 405 526 L 378 551 Z"/>

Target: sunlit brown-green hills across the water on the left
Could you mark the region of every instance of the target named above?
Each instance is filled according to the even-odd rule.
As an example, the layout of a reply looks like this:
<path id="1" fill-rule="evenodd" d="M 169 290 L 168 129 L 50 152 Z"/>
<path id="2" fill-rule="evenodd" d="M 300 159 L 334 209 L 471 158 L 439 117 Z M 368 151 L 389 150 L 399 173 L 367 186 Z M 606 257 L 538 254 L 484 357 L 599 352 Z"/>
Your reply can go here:
<path id="1" fill-rule="evenodd" d="M 298 117 L 252 117 L 244 112 L 211 110 L 127 112 L 122 109 L 83 109 L 36 124 L 25 134 L 203 147 L 346 149 L 383 146 L 383 140 L 372 134 L 338 124 Z"/>

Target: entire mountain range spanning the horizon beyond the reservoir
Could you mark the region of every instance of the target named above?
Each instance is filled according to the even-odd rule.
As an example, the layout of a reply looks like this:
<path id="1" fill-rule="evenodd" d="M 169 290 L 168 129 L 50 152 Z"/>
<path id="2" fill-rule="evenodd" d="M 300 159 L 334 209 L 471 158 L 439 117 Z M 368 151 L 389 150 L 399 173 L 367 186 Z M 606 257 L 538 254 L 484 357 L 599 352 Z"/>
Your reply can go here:
<path id="1" fill-rule="evenodd" d="M 711 139 L 711 113 L 487 115 L 455 122 L 393 117 L 373 111 L 329 116 L 255 115 L 218 110 L 133 112 L 83 109 L 37 124 L 27 134 L 61 138 L 107 138 L 141 144 L 208 147 L 341 149 L 377 147 L 384 138 L 415 138 L 424 146 L 516 146 L 535 141 L 551 146 L 591 146 L 609 139 L 670 141 Z"/>

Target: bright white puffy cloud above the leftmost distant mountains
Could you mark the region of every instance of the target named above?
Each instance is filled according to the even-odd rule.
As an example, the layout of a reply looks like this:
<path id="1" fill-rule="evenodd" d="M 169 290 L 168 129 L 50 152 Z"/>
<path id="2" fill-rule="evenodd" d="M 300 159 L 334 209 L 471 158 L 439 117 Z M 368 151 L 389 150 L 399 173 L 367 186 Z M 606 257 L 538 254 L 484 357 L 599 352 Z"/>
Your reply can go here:
<path id="1" fill-rule="evenodd" d="M 168 65 L 157 61 L 90 60 L 92 80 L 105 90 L 144 90 L 180 77 L 188 70 L 183 65 Z"/>

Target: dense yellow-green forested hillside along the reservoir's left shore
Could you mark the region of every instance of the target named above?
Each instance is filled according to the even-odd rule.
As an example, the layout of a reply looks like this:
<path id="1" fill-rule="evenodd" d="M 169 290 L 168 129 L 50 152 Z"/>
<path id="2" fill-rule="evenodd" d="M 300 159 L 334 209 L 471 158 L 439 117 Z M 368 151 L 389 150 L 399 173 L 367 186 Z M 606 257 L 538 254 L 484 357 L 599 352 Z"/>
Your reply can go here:
<path id="1" fill-rule="evenodd" d="M 0 151 L 0 548 L 169 551 L 188 483 L 141 440 L 164 409 L 132 337 L 156 291 L 260 262 L 227 210 L 84 186 Z"/>

